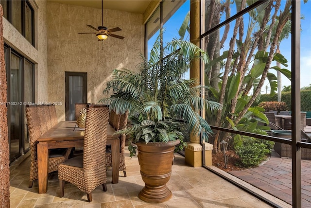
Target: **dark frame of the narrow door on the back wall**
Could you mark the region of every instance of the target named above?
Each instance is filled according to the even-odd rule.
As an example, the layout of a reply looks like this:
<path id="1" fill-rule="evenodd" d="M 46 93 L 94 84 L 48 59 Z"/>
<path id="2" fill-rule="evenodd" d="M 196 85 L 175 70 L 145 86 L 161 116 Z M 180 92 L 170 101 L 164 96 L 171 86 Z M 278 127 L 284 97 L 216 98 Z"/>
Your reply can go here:
<path id="1" fill-rule="evenodd" d="M 75 72 L 65 71 L 65 120 L 69 120 L 69 76 L 82 76 L 83 77 L 83 88 L 82 88 L 82 100 L 83 103 L 87 103 L 87 73 L 86 72 Z"/>

